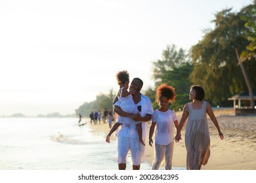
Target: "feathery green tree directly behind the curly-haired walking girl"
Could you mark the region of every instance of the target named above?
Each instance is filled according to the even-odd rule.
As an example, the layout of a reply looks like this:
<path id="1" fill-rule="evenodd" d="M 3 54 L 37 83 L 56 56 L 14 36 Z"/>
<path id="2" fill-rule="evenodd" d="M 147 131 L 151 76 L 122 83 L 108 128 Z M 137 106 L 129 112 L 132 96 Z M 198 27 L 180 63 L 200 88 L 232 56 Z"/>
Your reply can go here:
<path id="1" fill-rule="evenodd" d="M 173 44 L 167 46 L 163 50 L 162 59 L 153 62 L 154 80 L 156 88 L 160 84 L 167 84 L 175 88 L 176 99 L 173 105 L 169 104 L 169 108 L 173 110 L 182 110 L 183 105 L 188 102 L 188 92 L 191 86 L 189 80 L 190 73 L 193 71 L 193 66 L 190 63 L 189 55 L 182 48 L 177 50 Z M 146 95 L 150 97 L 154 109 L 159 108 L 156 103 L 156 88 L 155 90 L 146 91 Z"/>

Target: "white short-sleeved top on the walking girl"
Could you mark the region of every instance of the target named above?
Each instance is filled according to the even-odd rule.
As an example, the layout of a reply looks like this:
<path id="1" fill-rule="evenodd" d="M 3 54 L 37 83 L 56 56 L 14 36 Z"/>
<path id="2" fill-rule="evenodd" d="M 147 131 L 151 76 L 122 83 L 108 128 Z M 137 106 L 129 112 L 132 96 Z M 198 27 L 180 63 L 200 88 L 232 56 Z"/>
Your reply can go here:
<path id="1" fill-rule="evenodd" d="M 152 122 L 156 122 L 155 143 L 168 145 L 174 139 L 174 121 L 177 116 L 173 110 L 168 109 L 166 112 L 155 110 L 152 114 Z"/>

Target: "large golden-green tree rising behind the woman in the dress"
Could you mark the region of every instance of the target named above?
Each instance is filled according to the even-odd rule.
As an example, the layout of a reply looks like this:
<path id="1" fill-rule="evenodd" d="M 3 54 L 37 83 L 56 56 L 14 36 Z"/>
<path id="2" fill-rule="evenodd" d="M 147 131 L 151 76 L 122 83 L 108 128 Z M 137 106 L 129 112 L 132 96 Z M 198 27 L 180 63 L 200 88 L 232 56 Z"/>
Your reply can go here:
<path id="1" fill-rule="evenodd" d="M 245 21 L 231 9 L 218 12 L 213 22 L 215 29 L 207 31 L 202 41 L 192 47 L 194 71 L 190 80 L 203 86 L 206 100 L 221 104 L 231 95 L 247 90 L 234 48 L 244 50 L 249 41 L 244 37 Z M 255 63 L 244 63 L 254 88 Z"/>

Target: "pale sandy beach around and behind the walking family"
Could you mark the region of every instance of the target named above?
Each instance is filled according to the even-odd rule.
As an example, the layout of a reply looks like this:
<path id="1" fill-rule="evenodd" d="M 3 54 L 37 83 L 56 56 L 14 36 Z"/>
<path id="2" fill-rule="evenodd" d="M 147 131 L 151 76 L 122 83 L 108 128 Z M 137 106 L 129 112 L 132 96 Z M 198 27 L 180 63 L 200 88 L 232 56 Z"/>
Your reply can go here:
<path id="1" fill-rule="evenodd" d="M 178 122 L 181 112 L 176 112 Z M 208 118 L 211 137 L 211 156 L 202 170 L 255 170 L 256 169 L 256 116 L 234 116 L 234 114 L 215 112 L 224 134 L 221 141 L 215 126 Z M 149 124 L 150 127 L 150 124 Z M 108 133 L 108 124 L 91 125 L 93 132 Z M 182 129 L 182 137 L 186 125 Z M 112 135 L 112 141 L 116 137 Z M 146 139 L 146 161 L 152 162 L 154 150 Z M 186 148 L 184 139 L 176 143 L 173 154 L 173 167 L 186 167 Z"/>

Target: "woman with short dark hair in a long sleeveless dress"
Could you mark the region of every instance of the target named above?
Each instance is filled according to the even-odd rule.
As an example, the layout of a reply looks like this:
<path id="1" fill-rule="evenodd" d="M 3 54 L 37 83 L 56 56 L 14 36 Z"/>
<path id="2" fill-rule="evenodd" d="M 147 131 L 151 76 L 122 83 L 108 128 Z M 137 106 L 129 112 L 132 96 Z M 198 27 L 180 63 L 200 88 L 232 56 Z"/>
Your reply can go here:
<path id="1" fill-rule="evenodd" d="M 203 101 L 204 96 L 205 93 L 201 86 L 190 88 L 189 99 L 192 102 L 184 106 L 181 122 L 175 136 L 175 141 L 179 142 L 181 129 L 188 118 L 185 132 L 186 169 L 188 170 L 200 170 L 202 165 L 207 164 L 210 157 L 210 137 L 206 114 L 209 115 L 211 122 L 217 128 L 221 140 L 224 138 L 211 105 L 207 101 Z"/>

